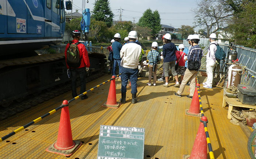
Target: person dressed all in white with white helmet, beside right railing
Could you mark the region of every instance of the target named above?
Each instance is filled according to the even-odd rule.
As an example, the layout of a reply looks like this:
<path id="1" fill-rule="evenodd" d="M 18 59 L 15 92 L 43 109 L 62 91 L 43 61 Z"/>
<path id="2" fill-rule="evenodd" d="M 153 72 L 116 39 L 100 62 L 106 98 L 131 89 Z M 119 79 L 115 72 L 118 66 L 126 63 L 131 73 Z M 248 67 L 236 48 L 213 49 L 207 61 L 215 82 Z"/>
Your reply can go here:
<path id="1" fill-rule="evenodd" d="M 208 48 L 208 53 L 206 55 L 206 73 L 207 73 L 207 80 L 203 83 L 204 88 L 213 88 L 213 69 L 218 63 L 215 58 L 215 52 L 217 51 L 217 42 L 215 41 L 217 36 L 215 33 L 211 33 L 209 40 L 210 46 Z"/>

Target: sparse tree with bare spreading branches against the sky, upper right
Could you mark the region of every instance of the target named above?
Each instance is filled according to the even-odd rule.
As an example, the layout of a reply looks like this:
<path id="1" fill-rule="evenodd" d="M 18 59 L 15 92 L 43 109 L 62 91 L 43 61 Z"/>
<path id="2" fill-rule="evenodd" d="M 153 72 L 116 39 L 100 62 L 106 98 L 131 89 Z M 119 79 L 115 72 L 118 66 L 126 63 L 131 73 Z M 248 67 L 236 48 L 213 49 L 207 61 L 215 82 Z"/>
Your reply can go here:
<path id="1" fill-rule="evenodd" d="M 232 10 L 225 7 L 221 0 L 200 0 L 197 6 L 198 9 L 194 10 L 196 14 L 194 24 L 204 26 L 207 37 L 223 27 L 227 19 L 233 15 Z"/>

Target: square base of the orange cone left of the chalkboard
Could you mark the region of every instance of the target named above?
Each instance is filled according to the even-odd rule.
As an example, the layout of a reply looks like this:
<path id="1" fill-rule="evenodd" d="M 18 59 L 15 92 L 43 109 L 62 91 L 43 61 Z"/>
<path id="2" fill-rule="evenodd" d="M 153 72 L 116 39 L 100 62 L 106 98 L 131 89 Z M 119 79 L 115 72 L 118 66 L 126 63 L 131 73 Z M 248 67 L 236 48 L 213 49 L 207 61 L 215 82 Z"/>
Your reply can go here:
<path id="1" fill-rule="evenodd" d="M 59 149 L 56 149 L 54 147 L 54 144 L 56 143 L 53 143 L 52 145 L 50 145 L 48 148 L 46 148 L 46 151 L 47 152 L 52 152 L 52 153 L 56 153 L 56 154 L 59 154 L 59 155 L 64 155 L 64 156 L 71 156 L 73 155 L 73 153 L 75 153 L 77 151 L 78 148 L 80 148 L 80 146 L 82 145 L 82 142 L 78 141 L 78 140 L 73 140 L 75 142 L 75 146 L 71 149 L 67 149 L 67 150 L 59 150 Z"/>

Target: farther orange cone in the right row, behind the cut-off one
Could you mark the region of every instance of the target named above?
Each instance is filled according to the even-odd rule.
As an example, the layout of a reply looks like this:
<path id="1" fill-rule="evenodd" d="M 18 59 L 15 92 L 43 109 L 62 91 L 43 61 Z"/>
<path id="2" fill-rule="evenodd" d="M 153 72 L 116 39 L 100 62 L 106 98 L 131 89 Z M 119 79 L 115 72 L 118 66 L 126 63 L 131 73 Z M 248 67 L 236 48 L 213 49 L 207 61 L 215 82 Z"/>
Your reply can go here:
<path id="1" fill-rule="evenodd" d="M 200 117 L 200 104 L 199 104 L 199 98 L 198 98 L 198 90 L 199 89 L 199 84 L 196 84 L 196 89 L 194 90 L 194 95 L 190 104 L 190 108 L 186 109 L 185 114 L 187 116 L 195 116 L 195 117 Z"/>

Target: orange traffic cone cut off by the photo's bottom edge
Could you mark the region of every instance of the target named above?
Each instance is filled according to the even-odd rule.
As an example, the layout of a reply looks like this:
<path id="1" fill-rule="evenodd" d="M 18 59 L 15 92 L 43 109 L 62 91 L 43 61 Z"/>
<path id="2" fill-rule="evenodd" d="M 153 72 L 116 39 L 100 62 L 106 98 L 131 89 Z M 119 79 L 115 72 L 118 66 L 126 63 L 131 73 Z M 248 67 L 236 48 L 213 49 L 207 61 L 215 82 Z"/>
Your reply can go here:
<path id="1" fill-rule="evenodd" d="M 183 155 L 183 159 L 207 159 L 207 141 L 203 122 L 207 122 L 207 117 L 201 118 L 192 152 L 190 155 Z"/>

